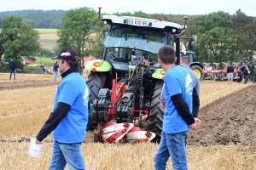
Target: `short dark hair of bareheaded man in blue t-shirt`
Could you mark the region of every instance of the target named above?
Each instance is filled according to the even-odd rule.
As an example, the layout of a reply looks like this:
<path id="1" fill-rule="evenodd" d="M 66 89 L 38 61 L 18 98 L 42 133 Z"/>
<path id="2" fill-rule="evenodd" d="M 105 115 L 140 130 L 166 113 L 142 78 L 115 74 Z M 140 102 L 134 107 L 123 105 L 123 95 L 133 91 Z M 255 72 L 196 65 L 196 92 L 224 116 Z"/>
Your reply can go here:
<path id="1" fill-rule="evenodd" d="M 164 64 L 174 64 L 175 63 L 175 50 L 170 45 L 165 45 L 164 47 L 160 48 L 158 53 L 158 58 L 164 63 Z"/>

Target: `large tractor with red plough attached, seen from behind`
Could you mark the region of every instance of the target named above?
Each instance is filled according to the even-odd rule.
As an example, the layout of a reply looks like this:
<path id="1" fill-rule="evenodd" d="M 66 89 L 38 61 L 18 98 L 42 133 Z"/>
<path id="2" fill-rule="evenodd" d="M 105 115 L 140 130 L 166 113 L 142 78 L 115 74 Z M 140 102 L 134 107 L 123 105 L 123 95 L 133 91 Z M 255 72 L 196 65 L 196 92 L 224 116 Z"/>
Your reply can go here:
<path id="1" fill-rule="evenodd" d="M 99 18 L 100 12 L 101 8 Z M 95 141 L 160 140 L 164 116 L 160 92 L 165 71 L 157 61 L 157 52 L 164 45 L 174 46 L 175 42 L 179 56 L 180 36 L 188 17 L 184 19 L 184 26 L 131 16 L 104 15 L 100 19 L 109 25 L 103 42 L 104 54 L 102 59 L 91 60 L 85 65 L 90 71 L 87 80 L 91 94 L 88 129 L 97 128 Z M 149 60 L 149 66 L 131 61 L 137 51 L 143 59 Z M 138 60 L 142 61 L 141 56 Z"/>

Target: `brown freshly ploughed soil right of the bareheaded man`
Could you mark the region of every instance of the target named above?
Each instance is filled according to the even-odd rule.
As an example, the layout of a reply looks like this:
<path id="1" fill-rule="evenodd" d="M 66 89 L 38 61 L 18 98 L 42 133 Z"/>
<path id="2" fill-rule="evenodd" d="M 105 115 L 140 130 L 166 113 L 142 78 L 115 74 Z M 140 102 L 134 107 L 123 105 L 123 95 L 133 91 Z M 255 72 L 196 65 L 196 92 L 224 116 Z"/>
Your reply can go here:
<path id="1" fill-rule="evenodd" d="M 218 99 L 201 108 L 201 128 L 190 130 L 188 144 L 208 146 L 242 144 L 256 147 L 256 87 Z"/>

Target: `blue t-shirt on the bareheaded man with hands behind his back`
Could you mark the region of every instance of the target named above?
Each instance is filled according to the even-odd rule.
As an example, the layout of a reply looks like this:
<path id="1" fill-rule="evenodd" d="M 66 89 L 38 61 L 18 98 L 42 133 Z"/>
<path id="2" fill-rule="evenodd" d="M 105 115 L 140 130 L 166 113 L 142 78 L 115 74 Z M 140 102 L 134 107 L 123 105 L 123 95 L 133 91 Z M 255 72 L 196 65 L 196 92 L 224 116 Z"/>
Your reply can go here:
<path id="1" fill-rule="evenodd" d="M 165 133 L 180 133 L 189 130 L 189 125 L 183 120 L 172 103 L 171 96 L 183 94 L 183 99 L 189 105 L 192 114 L 192 94 L 195 87 L 189 72 L 180 65 L 172 66 L 166 71 L 164 78 L 166 110 L 164 114 L 163 131 Z"/>

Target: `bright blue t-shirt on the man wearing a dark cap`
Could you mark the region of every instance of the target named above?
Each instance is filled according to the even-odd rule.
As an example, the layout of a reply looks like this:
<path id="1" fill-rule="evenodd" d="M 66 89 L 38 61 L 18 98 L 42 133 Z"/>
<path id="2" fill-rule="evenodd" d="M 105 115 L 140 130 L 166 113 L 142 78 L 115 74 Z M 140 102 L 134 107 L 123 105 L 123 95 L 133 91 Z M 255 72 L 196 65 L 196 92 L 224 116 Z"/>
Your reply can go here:
<path id="1" fill-rule="evenodd" d="M 78 72 L 63 78 L 55 94 L 55 110 L 59 102 L 71 105 L 60 124 L 53 131 L 53 137 L 60 143 L 73 144 L 84 141 L 88 123 L 88 101 L 90 88 Z"/>

